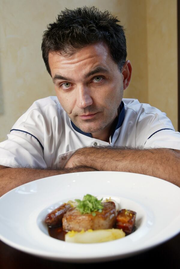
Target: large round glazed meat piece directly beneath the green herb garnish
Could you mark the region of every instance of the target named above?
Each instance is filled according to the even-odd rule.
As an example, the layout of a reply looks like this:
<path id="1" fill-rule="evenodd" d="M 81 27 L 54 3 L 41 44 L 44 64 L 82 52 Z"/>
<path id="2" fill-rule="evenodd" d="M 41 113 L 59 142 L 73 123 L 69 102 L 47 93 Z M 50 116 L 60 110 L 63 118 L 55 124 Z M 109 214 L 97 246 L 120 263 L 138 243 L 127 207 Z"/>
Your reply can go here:
<path id="1" fill-rule="evenodd" d="M 102 212 L 96 211 L 96 216 L 92 213 L 81 214 L 76 208 L 70 208 L 63 216 L 63 230 L 80 232 L 82 229 L 111 229 L 116 221 L 116 206 L 114 202 L 102 203 Z"/>

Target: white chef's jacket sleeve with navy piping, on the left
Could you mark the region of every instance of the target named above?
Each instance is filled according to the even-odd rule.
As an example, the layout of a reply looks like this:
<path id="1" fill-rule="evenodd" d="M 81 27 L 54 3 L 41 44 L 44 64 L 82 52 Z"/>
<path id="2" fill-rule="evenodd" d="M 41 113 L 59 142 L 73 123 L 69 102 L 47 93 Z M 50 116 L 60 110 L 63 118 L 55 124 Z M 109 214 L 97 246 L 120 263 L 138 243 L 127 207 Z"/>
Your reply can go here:
<path id="1" fill-rule="evenodd" d="M 44 128 L 44 118 L 38 108 L 23 114 L 13 125 L 8 139 L 0 143 L 0 165 L 46 168 Z"/>

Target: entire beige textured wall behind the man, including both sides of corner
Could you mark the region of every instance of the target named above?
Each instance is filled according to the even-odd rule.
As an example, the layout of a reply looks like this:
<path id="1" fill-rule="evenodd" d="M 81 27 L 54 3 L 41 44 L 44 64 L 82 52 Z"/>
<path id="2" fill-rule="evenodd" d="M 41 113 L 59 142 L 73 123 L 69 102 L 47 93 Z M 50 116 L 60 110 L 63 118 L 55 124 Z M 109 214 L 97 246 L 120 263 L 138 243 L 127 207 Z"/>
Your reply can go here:
<path id="1" fill-rule="evenodd" d="M 85 4 L 110 10 L 126 28 L 133 76 L 125 97 L 157 106 L 177 129 L 176 0 L 0 0 L 0 141 L 33 101 L 55 94 L 41 56 L 46 25 Z"/>

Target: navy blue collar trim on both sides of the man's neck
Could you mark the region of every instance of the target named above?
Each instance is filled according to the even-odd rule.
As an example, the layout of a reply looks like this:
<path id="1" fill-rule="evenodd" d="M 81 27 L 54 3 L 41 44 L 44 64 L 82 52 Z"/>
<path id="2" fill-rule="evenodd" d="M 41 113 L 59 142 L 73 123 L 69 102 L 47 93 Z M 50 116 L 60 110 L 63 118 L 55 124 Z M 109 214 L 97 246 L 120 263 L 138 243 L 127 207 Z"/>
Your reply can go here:
<path id="1" fill-rule="evenodd" d="M 116 131 L 119 127 L 121 127 L 121 125 L 122 125 L 122 123 L 123 123 L 123 121 L 124 121 L 124 118 L 125 118 L 125 105 L 124 105 L 124 103 L 123 103 L 123 101 L 122 101 L 121 104 L 120 104 L 120 106 L 119 106 L 119 116 L 118 116 L 118 118 L 117 118 L 116 123 L 114 124 L 114 125 L 115 125 L 115 128 L 113 128 L 113 131 L 112 131 L 112 134 L 111 134 L 111 141 L 112 141 L 112 139 L 113 139 L 113 135 L 114 135 L 115 131 Z M 81 134 L 83 134 L 83 135 L 85 135 L 85 136 L 92 137 L 92 136 L 91 136 L 91 133 L 85 133 L 85 132 L 83 132 L 83 131 L 80 130 L 75 124 L 73 124 L 72 121 L 70 121 L 70 123 L 71 123 L 73 129 L 74 129 L 75 131 L 77 131 L 78 133 L 81 133 Z"/>

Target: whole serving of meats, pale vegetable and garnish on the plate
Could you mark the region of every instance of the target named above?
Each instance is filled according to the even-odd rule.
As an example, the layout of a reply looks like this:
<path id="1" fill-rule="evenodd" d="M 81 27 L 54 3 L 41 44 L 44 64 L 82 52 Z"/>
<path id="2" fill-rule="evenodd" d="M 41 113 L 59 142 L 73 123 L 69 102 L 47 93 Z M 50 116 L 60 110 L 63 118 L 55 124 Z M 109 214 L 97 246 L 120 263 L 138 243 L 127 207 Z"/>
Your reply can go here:
<path id="1" fill-rule="evenodd" d="M 136 212 L 122 209 L 111 198 L 105 201 L 86 194 L 50 212 L 45 223 L 53 238 L 75 243 L 99 243 L 133 232 Z M 117 228 L 117 229 L 114 229 Z"/>

